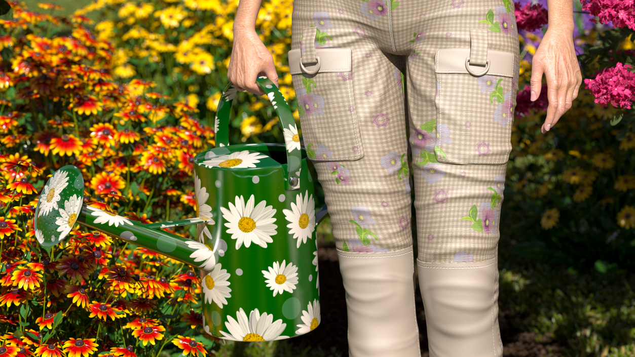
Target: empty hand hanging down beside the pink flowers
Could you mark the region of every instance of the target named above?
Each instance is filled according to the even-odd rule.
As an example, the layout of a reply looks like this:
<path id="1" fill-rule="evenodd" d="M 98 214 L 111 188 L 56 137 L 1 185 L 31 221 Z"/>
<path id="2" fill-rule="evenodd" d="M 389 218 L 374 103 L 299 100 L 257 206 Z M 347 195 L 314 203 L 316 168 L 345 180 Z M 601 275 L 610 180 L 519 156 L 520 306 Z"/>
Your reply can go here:
<path id="1" fill-rule="evenodd" d="M 572 32 L 549 29 L 531 61 L 531 101 L 540 96 L 542 74 L 547 79 L 547 118 L 542 133 L 556 125 L 578 96 L 582 74 L 573 48 Z"/>

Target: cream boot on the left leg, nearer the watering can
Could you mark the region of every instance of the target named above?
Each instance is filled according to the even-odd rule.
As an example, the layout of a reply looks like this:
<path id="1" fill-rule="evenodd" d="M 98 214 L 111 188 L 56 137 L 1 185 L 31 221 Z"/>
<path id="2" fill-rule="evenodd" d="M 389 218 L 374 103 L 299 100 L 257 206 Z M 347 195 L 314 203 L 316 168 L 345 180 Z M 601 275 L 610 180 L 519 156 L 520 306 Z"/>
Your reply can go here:
<path id="1" fill-rule="evenodd" d="M 346 290 L 351 357 L 419 357 L 412 247 L 337 254 Z"/>

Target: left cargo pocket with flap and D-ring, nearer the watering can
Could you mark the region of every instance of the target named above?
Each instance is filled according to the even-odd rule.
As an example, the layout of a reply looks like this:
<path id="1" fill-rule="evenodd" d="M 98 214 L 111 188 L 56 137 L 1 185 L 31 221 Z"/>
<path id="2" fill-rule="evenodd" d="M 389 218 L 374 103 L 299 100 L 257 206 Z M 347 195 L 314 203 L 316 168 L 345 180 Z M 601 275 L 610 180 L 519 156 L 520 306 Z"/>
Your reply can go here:
<path id="1" fill-rule="evenodd" d="M 350 48 L 314 48 L 315 27 L 289 51 L 304 147 L 309 159 L 352 161 L 364 156 L 353 101 Z M 309 39 L 309 40 L 306 40 Z"/>

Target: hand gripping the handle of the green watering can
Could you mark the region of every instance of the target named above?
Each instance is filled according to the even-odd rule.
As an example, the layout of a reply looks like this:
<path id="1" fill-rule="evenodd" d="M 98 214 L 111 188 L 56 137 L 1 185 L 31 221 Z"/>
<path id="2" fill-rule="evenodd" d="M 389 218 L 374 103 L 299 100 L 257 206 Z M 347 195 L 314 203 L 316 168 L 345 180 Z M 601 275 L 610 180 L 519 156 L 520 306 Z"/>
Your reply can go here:
<path id="1" fill-rule="evenodd" d="M 262 95 L 264 92 L 256 84 L 256 79 L 260 75 L 266 75 L 276 86 L 278 85 L 274 59 L 255 30 L 234 29 L 234 46 L 227 78 L 239 91 Z"/>

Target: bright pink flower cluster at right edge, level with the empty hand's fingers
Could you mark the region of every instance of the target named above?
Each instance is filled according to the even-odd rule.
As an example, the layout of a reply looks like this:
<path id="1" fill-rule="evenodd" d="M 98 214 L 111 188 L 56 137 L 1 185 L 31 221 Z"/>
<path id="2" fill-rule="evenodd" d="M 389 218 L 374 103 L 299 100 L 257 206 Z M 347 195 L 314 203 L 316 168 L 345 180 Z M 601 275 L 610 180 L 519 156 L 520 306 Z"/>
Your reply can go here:
<path id="1" fill-rule="evenodd" d="M 631 0 L 632 3 L 632 0 Z M 605 68 L 595 79 L 585 79 L 587 89 L 596 97 L 595 102 L 606 107 L 631 109 L 635 100 L 635 74 L 630 71 L 632 65 L 618 62 L 613 68 Z"/>

